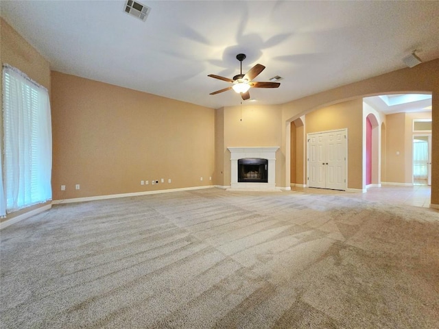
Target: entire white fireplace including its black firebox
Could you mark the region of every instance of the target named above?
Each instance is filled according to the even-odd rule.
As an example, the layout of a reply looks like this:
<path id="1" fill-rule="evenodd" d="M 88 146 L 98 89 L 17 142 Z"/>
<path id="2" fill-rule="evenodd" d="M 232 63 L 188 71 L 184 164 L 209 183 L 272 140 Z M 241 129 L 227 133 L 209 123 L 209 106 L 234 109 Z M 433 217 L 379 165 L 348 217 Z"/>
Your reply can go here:
<path id="1" fill-rule="evenodd" d="M 230 151 L 231 190 L 278 191 L 279 188 L 276 188 L 278 146 L 227 147 L 227 149 Z M 244 172 L 239 164 L 246 166 Z M 244 173 L 244 177 L 239 178 L 239 173 Z"/>

